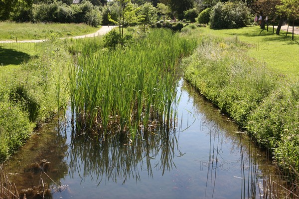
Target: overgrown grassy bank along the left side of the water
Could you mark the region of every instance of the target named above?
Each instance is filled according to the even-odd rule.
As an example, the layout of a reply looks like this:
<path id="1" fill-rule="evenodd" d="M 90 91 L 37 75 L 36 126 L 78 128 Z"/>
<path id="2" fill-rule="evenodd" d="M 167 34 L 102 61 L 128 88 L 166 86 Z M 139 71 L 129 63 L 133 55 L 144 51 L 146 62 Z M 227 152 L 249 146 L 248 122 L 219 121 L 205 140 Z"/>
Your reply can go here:
<path id="1" fill-rule="evenodd" d="M 26 61 L 20 62 L 6 58 L 7 63 L 0 66 L 0 162 L 23 145 L 36 125 L 66 103 L 71 57 L 63 42 L 53 36 L 34 46 L 34 50 L 0 48 L 0 52 L 28 55 Z"/>

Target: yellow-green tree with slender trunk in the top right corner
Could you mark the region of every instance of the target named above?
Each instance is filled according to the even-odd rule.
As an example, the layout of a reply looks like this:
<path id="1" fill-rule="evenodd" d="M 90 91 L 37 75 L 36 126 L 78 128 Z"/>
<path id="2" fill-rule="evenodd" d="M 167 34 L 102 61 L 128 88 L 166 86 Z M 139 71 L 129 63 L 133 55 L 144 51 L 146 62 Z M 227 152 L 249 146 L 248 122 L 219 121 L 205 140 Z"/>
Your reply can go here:
<path id="1" fill-rule="evenodd" d="M 293 34 L 294 40 L 294 21 L 299 19 L 299 0 L 281 0 L 281 4 L 276 6 L 278 12 L 285 13 L 288 18 L 293 20 Z"/>

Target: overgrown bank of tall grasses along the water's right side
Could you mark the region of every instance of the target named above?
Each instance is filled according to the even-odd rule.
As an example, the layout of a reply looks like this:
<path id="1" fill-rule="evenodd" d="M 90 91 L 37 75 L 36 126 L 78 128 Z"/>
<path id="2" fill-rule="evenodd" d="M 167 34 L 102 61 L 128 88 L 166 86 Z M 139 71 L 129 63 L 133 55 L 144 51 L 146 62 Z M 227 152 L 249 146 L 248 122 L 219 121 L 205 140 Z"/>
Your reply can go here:
<path id="1" fill-rule="evenodd" d="M 201 44 L 193 55 L 183 60 L 185 78 L 260 145 L 273 149 L 280 166 L 298 175 L 299 84 L 298 76 L 294 74 L 298 58 L 289 58 L 287 54 L 293 52 L 286 51 L 280 55 L 280 61 L 285 63 L 284 66 L 292 67 L 279 66 L 281 62 L 275 63 L 277 67 L 274 67 L 251 56 L 252 48 L 256 46 L 250 42 L 235 36 L 219 37 L 220 32 L 238 30 L 215 31 L 218 36 L 209 29 L 193 32 Z M 289 42 L 293 43 L 285 41 L 286 44 Z M 269 40 L 269 46 L 272 45 L 278 43 Z M 283 41 L 280 45 L 284 45 Z M 296 43 L 287 46 L 298 50 Z"/>

